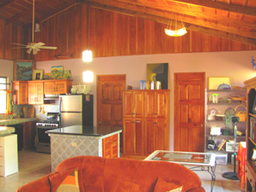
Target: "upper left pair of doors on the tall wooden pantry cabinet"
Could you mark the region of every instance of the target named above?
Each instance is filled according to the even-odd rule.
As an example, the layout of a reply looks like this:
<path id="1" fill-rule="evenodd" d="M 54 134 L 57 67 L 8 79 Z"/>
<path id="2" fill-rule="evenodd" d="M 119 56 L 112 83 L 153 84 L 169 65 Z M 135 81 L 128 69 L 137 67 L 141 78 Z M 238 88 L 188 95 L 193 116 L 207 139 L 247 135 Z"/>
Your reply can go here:
<path id="1" fill-rule="evenodd" d="M 125 90 L 124 91 L 124 117 L 143 117 L 144 94 L 142 91 Z"/>

